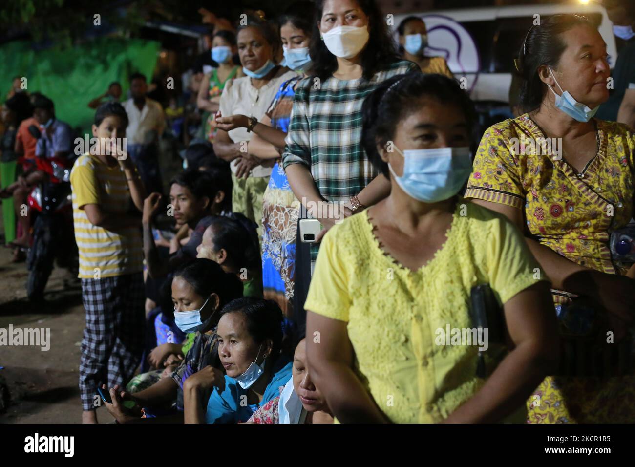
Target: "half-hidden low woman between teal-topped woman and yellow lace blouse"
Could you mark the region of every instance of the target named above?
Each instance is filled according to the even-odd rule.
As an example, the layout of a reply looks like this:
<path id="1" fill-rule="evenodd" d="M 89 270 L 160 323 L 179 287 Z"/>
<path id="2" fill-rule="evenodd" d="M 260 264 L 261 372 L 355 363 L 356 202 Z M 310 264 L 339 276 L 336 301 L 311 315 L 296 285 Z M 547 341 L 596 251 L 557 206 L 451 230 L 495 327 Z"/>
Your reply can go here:
<path id="1" fill-rule="evenodd" d="M 311 381 L 306 350 L 302 337 L 293 355 L 293 376 L 278 388 L 280 395 L 253 412 L 247 423 L 333 423 L 324 396 Z"/>

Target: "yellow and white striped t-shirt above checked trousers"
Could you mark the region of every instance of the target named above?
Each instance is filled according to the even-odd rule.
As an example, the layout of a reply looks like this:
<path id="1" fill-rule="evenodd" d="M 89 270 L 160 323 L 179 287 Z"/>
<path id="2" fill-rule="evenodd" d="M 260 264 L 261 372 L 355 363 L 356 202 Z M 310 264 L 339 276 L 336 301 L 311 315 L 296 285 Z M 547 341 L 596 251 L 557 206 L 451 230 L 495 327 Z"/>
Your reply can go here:
<path id="1" fill-rule="evenodd" d="M 140 228 L 117 233 L 93 226 L 84 205 L 97 204 L 107 213 L 124 214 L 130 206 L 126 175 L 119 165 L 109 167 L 97 156 L 77 158 L 70 172 L 75 240 L 79 249 L 79 278 L 123 276 L 143 269 Z"/>

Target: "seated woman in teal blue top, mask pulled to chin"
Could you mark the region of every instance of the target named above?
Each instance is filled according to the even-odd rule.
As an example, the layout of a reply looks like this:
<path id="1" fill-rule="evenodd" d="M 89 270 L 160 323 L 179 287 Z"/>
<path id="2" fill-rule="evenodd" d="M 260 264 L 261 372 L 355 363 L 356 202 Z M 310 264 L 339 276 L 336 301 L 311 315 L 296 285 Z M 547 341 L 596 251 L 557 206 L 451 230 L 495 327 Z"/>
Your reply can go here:
<path id="1" fill-rule="evenodd" d="M 282 311 L 271 301 L 244 297 L 227 304 L 218 321 L 218 357 L 227 374 L 206 367 L 185 380 L 185 423 L 246 422 L 276 398 L 291 377 L 281 353 Z M 205 390 L 212 391 L 207 398 Z"/>

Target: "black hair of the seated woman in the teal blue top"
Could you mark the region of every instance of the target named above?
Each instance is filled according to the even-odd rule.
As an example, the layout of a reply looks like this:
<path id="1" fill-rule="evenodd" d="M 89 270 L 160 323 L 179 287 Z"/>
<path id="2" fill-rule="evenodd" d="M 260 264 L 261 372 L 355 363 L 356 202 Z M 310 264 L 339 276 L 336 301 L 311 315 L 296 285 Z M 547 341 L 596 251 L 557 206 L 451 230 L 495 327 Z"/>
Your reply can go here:
<path id="1" fill-rule="evenodd" d="M 283 321 L 282 311 L 276 302 L 256 297 L 243 297 L 229 302 L 220 310 L 221 317 L 227 313 L 242 313 L 247 321 L 247 332 L 258 344 L 271 339 L 273 344 L 269 358 L 271 363 L 274 363 L 282 345 Z"/>

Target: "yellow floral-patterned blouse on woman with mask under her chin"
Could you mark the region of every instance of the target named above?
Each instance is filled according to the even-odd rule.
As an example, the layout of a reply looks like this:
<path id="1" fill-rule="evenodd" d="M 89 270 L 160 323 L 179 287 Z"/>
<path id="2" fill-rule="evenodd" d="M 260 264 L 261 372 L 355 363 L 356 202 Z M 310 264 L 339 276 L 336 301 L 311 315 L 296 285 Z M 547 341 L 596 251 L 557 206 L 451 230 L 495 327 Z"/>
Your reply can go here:
<path id="1" fill-rule="evenodd" d="M 582 266 L 624 274 L 629 265 L 612 261 L 608 240 L 633 215 L 635 133 L 621 123 L 596 125 L 599 150 L 582 173 L 544 154 L 545 146 L 535 142 L 545 135 L 528 114 L 491 126 L 474 157 L 465 198 L 522 209 L 529 233 L 542 245 Z"/>

